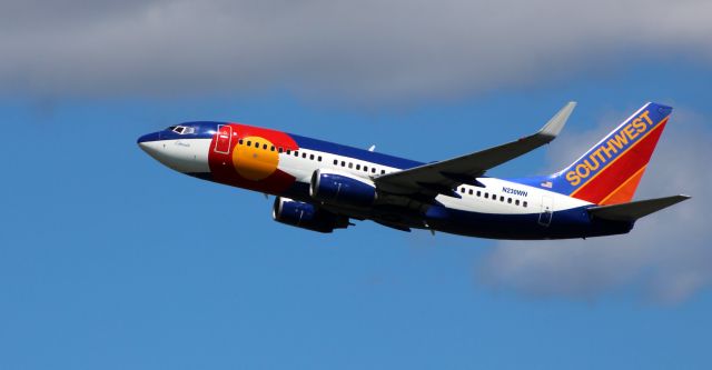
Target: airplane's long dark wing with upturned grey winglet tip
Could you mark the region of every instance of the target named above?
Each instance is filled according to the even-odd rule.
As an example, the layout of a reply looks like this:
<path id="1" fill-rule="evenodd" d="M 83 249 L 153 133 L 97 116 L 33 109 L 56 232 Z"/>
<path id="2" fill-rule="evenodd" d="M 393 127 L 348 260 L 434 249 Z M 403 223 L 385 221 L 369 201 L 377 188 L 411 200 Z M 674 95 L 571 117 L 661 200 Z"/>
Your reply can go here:
<path id="1" fill-rule="evenodd" d="M 568 102 L 538 132 L 520 140 L 445 161 L 384 174 L 374 181 L 379 189 L 399 194 L 422 193 L 433 197 L 438 193 L 452 193 L 453 188 L 462 183 L 476 183 L 476 178 L 483 176 L 488 169 L 554 140 L 575 107 L 575 102 Z"/>

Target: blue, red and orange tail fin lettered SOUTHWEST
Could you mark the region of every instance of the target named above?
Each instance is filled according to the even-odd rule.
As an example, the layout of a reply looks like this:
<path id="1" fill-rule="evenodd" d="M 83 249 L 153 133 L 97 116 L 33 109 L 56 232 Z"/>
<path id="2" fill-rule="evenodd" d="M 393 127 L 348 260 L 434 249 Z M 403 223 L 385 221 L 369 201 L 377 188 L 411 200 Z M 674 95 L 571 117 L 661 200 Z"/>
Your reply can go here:
<path id="1" fill-rule="evenodd" d="M 558 192 L 596 204 L 631 201 L 671 107 L 649 102 L 571 166 L 554 174 Z"/>

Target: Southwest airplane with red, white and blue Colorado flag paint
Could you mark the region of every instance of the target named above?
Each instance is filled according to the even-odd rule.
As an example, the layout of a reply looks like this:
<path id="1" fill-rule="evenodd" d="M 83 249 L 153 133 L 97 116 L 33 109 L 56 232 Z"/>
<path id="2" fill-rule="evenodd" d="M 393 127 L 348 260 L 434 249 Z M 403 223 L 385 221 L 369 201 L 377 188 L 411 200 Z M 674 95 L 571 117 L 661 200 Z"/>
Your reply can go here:
<path id="1" fill-rule="evenodd" d="M 554 140 L 575 106 L 534 134 L 428 163 L 234 122 L 175 124 L 138 146 L 185 174 L 276 196 L 276 221 L 324 233 L 372 220 L 490 239 L 585 239 L 627 233 L 640 218 L 690 198 L 632 201 L 672 112 L 654 102 L 561 171 L 485 176 Z"/>

